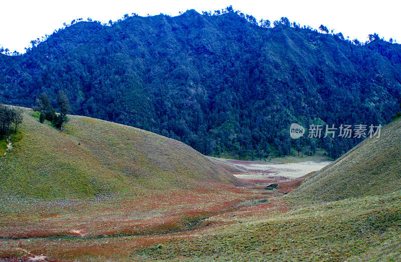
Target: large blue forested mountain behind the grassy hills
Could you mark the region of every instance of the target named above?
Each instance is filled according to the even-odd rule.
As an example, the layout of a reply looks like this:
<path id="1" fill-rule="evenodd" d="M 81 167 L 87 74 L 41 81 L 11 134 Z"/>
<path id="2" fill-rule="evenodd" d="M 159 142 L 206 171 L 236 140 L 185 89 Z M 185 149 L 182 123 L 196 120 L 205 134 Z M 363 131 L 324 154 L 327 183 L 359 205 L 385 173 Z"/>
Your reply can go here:
<path id="1" fill-rule="evenodd" d="M 341 35 L 342 36 L 342 35 Z M 384 124 L 399 110 L 401 48 L 234 12 L 80 22 L 21 56 L 0 54 L 0 102 L 64 90 L 71 113 L 180 140 L 208 155 L 338 157 L 361 139 L 292 140 L 291 123 Z M 56 101 L 52 101 L 56 106 Z"/>

